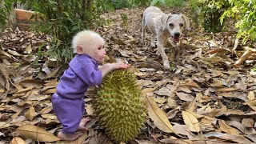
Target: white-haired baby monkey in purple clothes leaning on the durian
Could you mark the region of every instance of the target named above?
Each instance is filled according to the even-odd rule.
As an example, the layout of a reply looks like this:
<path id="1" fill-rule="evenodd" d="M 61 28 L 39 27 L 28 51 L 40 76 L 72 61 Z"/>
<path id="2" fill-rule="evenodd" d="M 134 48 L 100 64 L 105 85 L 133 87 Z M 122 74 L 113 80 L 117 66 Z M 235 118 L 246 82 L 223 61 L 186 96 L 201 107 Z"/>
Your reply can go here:
<path id="1" fill-rule="evenodd" d="M 83 30 L 76 34 L 72 41 L 75 57 L 70 61 L 52 96 L 54 113 L 62 124 L 58 138 L 73 141 L 82 135 L 77 130 L 87 130 L 90 118 L 83 118 L 85 113 L 85 92 L 89 86 L 98 86 L 102 78 L 112 70 L 127 69 L 124 63 L 104 62 L 106 51 L 104 39 L 94 31 Z"/>

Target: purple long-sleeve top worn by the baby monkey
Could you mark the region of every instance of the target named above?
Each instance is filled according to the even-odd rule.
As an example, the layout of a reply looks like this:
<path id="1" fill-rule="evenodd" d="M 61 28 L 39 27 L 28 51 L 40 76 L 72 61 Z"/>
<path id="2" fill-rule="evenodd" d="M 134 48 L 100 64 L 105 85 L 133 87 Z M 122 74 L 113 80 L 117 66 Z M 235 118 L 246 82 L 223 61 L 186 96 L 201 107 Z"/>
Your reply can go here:
<path id="1" fill-rule="evenodd" d="M 102 83 L 98 63 L 86 54 L 77 54 L 69 63 L 57 86 L 57 94 L 64 98 L 83 98 L 89 86 Z"/>

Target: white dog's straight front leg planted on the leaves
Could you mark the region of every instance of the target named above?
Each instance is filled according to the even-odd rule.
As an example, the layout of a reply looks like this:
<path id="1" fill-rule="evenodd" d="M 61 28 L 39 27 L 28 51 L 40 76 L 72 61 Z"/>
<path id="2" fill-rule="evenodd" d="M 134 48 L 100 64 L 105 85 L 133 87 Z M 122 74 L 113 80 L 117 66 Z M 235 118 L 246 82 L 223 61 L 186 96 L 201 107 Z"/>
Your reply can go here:
<path id="1" fill-rule="evenodd" d="M 163 47 L 164 41 L 165 40 L 164 40 L 164 38 L 161 37 L 161 35 L 158 36 L 158 52 L 157 52 L 157 54 L 161 55 L 163 66 L 170 69 L 170 62 L 168 60 L 168 57 L 166 56 L 165 49 Z"/>

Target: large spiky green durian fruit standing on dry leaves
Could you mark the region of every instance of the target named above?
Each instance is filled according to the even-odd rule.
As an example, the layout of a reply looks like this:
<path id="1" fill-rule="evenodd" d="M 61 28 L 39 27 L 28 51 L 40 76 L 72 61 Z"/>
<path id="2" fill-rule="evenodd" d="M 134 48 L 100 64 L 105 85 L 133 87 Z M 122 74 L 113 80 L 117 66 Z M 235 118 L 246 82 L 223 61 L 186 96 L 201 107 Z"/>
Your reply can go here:
<path id="1" fill-rule="evenodd" d="M 130 70 L 114 70 L 106 75 L 93 99 L 98 123 L 115 142 L 138 136 L 146 122 L 146 101 Z"/>

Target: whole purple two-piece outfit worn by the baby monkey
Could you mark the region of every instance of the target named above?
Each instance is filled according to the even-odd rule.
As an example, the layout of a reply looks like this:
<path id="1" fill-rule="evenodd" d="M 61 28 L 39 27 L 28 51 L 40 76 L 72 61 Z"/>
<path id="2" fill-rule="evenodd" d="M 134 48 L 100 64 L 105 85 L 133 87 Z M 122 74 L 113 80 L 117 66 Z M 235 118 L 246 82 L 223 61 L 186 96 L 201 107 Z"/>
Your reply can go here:
<path id="1" fill-rule="evenodd" d="M 74 134 L 85 113 L 84 95 L 89 86 L 100 85 L 98 63 L 86 54 L 77 54 L 69 63 L 52 96 L 54 112 L 62 123 L 63 134 Z"/>

